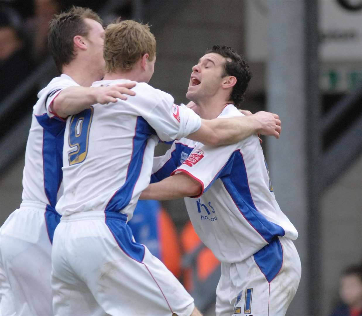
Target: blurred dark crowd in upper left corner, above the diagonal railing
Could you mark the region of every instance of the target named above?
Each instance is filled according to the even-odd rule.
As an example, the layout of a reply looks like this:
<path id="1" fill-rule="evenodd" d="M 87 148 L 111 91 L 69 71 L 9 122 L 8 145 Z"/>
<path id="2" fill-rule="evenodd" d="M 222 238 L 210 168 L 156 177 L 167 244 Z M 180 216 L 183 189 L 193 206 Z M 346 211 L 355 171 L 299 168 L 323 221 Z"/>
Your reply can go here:
<path id="1" fill-rule="evenodd" d="M 0 102 L 47 55 L 48 24 L 71 5 L 99 10 L 97 0 L 0 0 Z"/>

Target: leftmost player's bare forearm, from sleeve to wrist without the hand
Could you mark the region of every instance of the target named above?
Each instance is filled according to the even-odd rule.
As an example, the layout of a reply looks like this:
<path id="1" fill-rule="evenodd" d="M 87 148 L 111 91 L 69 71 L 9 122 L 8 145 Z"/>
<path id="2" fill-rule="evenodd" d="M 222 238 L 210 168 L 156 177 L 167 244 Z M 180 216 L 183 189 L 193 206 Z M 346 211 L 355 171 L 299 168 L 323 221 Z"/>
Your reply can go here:
<path id="1" fill-rule="evenodd" d="M 77 114 L 97 103 L 94 88 L 69 87 L 54 99 L 52 110 L 60 117 Z"/>

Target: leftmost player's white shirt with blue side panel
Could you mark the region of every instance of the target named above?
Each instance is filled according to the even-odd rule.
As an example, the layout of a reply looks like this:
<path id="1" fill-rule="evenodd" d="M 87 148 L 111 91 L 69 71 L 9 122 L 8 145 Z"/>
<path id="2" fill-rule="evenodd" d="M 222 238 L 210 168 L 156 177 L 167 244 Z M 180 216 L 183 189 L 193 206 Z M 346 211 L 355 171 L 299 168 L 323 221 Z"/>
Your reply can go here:
<path id="1" fill-rule="evenodd" d="M 55 207 L 62 194 L 62 151 L 66 121 L 51 113 L 50 105 L 59 92 L 78 84 L 67 75 L 55 77 L 38 93 L 25 151 L 23 201 Z"/>

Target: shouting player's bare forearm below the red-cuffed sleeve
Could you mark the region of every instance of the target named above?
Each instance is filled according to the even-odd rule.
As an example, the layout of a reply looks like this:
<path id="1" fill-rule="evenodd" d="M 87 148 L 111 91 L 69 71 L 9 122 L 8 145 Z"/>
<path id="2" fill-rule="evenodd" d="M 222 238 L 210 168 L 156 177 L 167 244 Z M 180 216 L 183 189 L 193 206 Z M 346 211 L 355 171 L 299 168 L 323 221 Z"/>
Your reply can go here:
<path id="1" fill-rule="evenodd" d="M 167 201 L 193 197 L 202 192 L 202 185 L 185 173 L 177 173 L 164 180 L 148 185 L 140 195 L 141 200 Z"/>

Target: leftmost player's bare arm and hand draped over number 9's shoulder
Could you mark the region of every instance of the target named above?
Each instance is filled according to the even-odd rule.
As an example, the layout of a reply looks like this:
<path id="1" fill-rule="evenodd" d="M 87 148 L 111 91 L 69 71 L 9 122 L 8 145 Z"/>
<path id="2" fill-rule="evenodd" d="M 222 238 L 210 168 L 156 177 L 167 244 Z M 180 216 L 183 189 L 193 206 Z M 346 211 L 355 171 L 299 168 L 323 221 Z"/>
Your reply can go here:
<path id="1" fill-rule="evenodd" d="M 126 94 L 135 95 L 135 92 L 130 90 L 135 85 L 135 82 L 129 82 L 107 87 L 68 87 L 52 99 L 49 111 L 58 117 L 66 118 L 96 103 L 116 102 L 117 98 L 127 100 Z"/>

